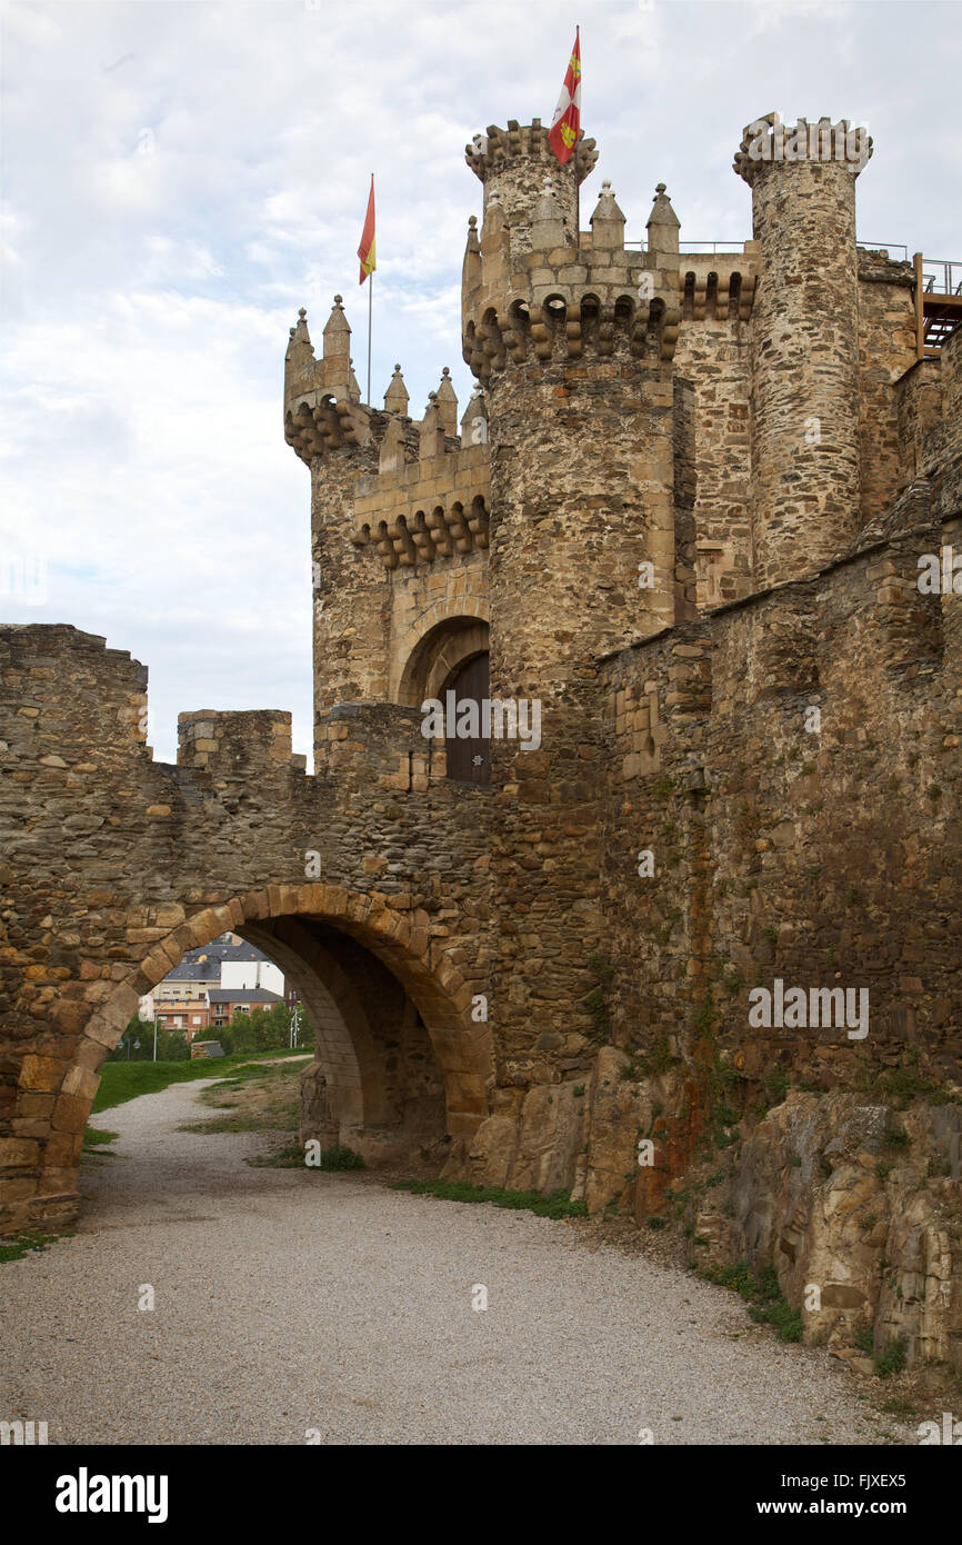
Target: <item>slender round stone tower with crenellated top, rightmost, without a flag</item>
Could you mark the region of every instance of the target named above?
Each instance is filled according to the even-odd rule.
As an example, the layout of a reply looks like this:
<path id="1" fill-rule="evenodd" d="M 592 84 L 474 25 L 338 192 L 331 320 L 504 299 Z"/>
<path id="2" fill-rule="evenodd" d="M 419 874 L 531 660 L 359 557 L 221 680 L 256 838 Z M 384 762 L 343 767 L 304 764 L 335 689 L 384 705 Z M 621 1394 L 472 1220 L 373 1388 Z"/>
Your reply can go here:
<path id="1" fill-rule="evenodd" d="M 855 178 L 865 130 L 750 124 L 735 171 L 752 188 L 755 582 L 820 569 L 860 527 Z"/>

